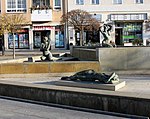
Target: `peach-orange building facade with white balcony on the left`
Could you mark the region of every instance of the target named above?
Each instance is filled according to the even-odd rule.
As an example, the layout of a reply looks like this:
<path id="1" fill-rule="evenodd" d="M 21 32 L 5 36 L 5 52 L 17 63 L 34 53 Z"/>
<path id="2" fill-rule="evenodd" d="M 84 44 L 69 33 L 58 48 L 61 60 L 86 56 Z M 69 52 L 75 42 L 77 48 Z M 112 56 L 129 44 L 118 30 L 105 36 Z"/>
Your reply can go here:
<path id="1" fill-rule="evenodd" d="M 64 30 L 60 24 L 62 0 L 0 0 L 1 14 L 23 14 L 29 24 L 15 34 L 16 49 L 38 49 L 47 36 L 51 48 L 65 48 Z M 12 35 L 4 35 L 5 49 L 13 47 Z"/>

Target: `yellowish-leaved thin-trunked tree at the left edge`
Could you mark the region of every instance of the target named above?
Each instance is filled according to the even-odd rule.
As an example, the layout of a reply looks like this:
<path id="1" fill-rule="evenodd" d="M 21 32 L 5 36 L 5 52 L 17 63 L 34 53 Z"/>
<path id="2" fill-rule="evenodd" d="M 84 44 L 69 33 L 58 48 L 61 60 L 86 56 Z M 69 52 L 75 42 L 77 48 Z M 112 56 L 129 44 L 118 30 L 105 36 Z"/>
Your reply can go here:
<path id="1" fill-rule="evenodd" d="M 15 59 L 15 39 L 14 34 L 19 29 L 26 26 L 29 22 L 23 16 L 23 14 L 3 14 L 0 17 L 0 33 L 11 33 L 13 35 L 13 58 Z"/>

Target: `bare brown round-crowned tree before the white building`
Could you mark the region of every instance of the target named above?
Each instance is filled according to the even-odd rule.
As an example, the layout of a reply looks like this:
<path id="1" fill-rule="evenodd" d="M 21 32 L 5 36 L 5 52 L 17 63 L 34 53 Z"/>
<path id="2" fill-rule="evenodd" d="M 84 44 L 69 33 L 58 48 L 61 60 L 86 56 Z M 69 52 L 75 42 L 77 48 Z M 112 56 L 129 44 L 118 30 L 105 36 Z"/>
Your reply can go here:
<path id="1" fill-rule="evenodd" d="M 80 32 L 80 46 L 83 45 L 84 30 L 99 29 L 100 23 L 84 10 L 76 9 L 62 15 L 62 23 L 68 23 Z"/>

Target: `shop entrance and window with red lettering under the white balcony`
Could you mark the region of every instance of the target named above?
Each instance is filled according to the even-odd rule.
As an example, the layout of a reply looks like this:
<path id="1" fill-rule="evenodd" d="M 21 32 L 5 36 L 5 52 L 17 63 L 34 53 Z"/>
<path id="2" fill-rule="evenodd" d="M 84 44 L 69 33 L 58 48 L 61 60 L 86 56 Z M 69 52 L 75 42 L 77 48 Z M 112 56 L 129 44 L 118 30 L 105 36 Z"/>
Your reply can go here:
<path id="1" fill-rule="evenodd" d="M 43 38 L 50 40 L 51 48 L 65 48 L 63 27 L 58 26 L 34 26 L 33 27 L 33 48 L 40 48 Z"/>

